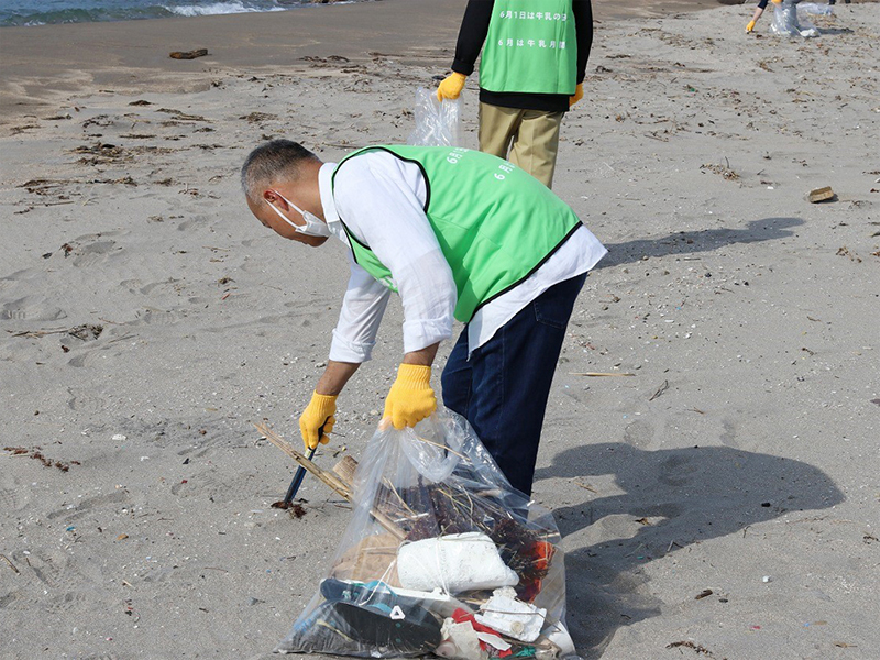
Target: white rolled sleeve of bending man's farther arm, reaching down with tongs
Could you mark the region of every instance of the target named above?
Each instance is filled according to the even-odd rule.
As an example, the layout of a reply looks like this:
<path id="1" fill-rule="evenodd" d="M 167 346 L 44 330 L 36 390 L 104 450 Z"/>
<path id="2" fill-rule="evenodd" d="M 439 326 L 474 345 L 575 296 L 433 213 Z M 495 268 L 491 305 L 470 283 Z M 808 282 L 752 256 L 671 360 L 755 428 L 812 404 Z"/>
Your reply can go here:
<path id="1" fill-rule="evenodd" d="M 349 252 L 351 276 L 339 322 L 333 330 L 330 360 L 360 364 L 372 358 L 382 316 L 388 305 L 391 289 L 359 266 Z"/>

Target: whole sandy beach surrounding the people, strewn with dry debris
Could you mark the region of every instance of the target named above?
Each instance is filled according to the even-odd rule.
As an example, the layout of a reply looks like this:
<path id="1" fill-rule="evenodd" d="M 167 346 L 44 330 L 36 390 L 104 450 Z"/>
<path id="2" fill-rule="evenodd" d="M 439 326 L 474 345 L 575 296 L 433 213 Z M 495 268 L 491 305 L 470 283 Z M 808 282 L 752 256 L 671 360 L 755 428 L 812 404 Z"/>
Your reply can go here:
<path id="1" fill-rule="evenodd" d="M 348 266 L 261 227 L 239 167 L 272 136 L 406 141 L 464 4 L 0 30 L 0 658 L 273 657 L 350 507 L 307 479 L 304 517 L 271 508 L 292 462 L 253 424 L 298 442 Z M 587 659 L 878 658 L 880 4 L 792 41 L 746 35 L 751 6 L 618 9 L 554 183 L 609 249 L 535 485 L 572 635 Z M 375 429 L 402 321 L 322 466 Z"/>

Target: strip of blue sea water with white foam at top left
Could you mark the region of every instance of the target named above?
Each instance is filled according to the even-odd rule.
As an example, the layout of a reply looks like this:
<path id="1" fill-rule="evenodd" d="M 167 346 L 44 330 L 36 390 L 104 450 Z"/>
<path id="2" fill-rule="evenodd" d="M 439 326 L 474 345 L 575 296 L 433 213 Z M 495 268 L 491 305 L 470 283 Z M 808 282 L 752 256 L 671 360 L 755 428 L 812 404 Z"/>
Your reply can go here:
<path id="1" fill-rule="evenodd" d="M 285 11 L 309 0 L 0 0 L 0 26 Z"/>

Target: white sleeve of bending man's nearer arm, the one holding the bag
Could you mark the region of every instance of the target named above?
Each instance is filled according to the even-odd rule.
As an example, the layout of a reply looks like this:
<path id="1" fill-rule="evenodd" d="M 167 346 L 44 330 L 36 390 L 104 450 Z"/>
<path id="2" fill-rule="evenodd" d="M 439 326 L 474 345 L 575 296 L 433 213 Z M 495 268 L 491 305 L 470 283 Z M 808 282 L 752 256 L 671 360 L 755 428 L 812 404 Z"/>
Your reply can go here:
<path id="1" fill-rule="evenodd" d="M 425 185 L 417 165 L 387 152 L 346 161 L 336 179 L 340 218 L 392 272 L 407 353 L 452 337 L 457 301 L 452 270 L 422 208 Z"/>

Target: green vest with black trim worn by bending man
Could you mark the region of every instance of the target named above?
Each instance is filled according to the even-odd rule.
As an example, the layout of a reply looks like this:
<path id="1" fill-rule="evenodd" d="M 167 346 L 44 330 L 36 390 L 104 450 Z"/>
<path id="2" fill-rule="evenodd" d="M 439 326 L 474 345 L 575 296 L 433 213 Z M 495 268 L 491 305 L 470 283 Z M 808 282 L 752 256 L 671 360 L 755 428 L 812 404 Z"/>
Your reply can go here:
<path id="1" fill-rule="evenodd" d="M 530 174 L 491 154 L 450 146 L 367 146 L 352 157 L 385 151 L 416 163 L 425 176 L 425 213 L 452 270 L 455 319 L 526 279 L 581 227 L 574 211 Z M 345 226 L 354 261 L 396 290 L 392 272 Z"/>

